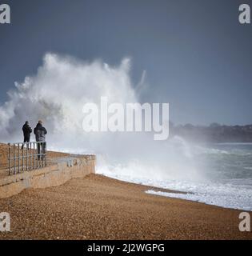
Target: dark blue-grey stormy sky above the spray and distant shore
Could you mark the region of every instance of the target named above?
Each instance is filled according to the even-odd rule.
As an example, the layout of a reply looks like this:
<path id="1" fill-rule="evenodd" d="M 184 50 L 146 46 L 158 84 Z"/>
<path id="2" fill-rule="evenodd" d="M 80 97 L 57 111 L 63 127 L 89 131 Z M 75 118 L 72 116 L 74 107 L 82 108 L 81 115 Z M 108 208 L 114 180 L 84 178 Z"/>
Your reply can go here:
<path id="1" fill-rule="evenodd" d="M 170 102 L 176 124 L 252 123 L 252 25 L 238 22 L 251 0 L 3 1 L 0 102 L 35 74 L 48 52 L 118 65 L 132 60 L 134 84 L 146 70 L 142 102 Z"/>

